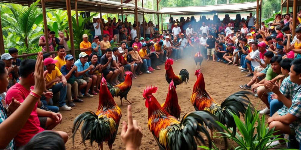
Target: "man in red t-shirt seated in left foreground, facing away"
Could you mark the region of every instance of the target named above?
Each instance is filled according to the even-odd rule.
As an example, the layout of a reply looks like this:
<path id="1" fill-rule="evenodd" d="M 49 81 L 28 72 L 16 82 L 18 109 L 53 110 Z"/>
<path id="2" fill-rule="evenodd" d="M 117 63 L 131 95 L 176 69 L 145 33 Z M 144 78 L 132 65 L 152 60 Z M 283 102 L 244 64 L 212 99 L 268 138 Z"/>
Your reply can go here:
<path id="1" fill-rule="evenodd" d="M 35 70 L 36 60 L 24 59 L 20 63 L 20 82 L 12 86 L 6 94 L 5 103 L 10 104 L 11 101 L 17 100 L 23 103 L 27 96 L 31 95 L 39 99 L 41 96 L 36 92 L 31 91 L 30 87 L 35 84 L 35 76 L 33 75 Z M 50 111 L 45 111 L 37 108 L 37 102 L 31 108 L 32 112 L 26 121 L 23 128 L 14 137 L 15 146 L 20 147 L 28 143 L 28 141 L 37 133 L 44 131 L 40 126 L 44 126 L 46 130 L 52 130 L 56 125 L 62 121 L 62 115 Z M 16 113 L 16 112 L 14 112 Z M 40 119 L 38 118 L 40 117 Z M 66 143 L 68 135 L 66 132 L 55 131 L 60 134 Z"/>

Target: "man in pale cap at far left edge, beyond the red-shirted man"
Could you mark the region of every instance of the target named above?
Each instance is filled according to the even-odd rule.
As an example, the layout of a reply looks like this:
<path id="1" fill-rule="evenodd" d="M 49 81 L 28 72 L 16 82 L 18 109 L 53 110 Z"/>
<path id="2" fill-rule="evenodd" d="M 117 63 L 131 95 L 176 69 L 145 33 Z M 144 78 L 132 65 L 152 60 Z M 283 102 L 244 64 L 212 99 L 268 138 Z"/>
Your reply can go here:
<path id="1" fill-rule="evenodd" d="M 10 88 L 14 84 L 16 84 L 16 78 L 19 77 L 19 67 L 12 65 L 13 64 L 13 57 L 9 55 L 9 53 L 4 53 L 1 55 L 1 60 L 5 63 L 5 68 L 8 72 L 8 87 Z"/>

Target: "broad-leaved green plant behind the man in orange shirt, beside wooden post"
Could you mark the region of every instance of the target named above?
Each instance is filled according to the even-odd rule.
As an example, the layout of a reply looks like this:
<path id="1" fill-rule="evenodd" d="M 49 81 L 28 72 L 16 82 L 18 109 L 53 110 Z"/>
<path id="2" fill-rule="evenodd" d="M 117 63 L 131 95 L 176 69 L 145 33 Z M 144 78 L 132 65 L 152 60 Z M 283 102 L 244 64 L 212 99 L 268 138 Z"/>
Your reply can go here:
<path id="1" fill-rule="evenodd" d="M 73 27 L 73 37 L 74 41 L 77 45 L 76 48 L 79 48 L 79 44 L 82 41 L 82 35 L 87 34 L 88 36 L 91 35 L 90 30 L 84 29 L 85 24 L 93 18 L 93 16 L 96 16 L 97 13 L 92 14 L 88 18 L 82 18 L 82 16 L 78 17 L 78 25 L 76 23 L 76 19 L 72 17 L 72 27 Z M 74 45 L 75 46 L 75 45 Z"/>

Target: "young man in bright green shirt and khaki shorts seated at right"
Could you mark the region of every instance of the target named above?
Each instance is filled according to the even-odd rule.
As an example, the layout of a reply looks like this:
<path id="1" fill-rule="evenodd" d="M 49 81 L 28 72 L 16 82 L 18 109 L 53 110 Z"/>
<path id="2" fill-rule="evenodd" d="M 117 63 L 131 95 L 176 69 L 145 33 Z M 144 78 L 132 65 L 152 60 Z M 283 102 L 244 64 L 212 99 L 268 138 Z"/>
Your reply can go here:
<path id="1" fill-rule="evenodd" d="M 270 103 L 268 102 L 268 96 L 272 94 L 272 91 L 266 88 L 267 82 L 274 79 L 276 76 L 281 74 L 280 61 L 282 58 L 280 56 L 274 56 L 271 58 L 271 67 L 268 68 L 264 81 L 264 86 L 259 86 L 257 88 L 257 94 L 260 100 L 265 103 L 266 107 L 259 111 L 259 114 L 269 114 L 270 113 Z"/>

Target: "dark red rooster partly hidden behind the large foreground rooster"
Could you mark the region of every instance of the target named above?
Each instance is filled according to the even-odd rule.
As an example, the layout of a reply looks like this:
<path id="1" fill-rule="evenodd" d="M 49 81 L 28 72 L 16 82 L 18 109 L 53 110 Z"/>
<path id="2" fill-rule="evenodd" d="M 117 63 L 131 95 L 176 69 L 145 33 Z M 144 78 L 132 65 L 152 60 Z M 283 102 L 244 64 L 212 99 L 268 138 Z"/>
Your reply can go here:
<path id="1" fill-rule="evenodd" d="M 175 86 L 173 85 L 173 80 L 169 83 L 168 93 L 165 100 L 165 103 L 161 104 L 161 107 L 166 110 L 171 116 L 174 116 L 176 119 L 180 119 L 181 108 L 178 104 L 178 95 L 175 91 Z"/>

